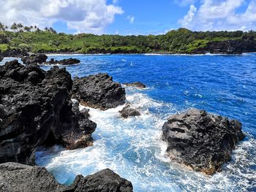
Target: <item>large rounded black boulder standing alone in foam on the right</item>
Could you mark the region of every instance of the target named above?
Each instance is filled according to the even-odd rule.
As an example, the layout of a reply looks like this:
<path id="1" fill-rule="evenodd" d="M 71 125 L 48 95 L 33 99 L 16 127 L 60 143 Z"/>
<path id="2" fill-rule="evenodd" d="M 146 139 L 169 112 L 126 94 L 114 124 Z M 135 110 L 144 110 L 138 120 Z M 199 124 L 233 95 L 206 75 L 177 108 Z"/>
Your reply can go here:
<path id="1" fill-rule="evenodd" d="M 236 142 L 244 139 L 238 120 L 197 109 L 170 116 L 162 131 L 171 159 L 206 174 L 220 172 Z"/>

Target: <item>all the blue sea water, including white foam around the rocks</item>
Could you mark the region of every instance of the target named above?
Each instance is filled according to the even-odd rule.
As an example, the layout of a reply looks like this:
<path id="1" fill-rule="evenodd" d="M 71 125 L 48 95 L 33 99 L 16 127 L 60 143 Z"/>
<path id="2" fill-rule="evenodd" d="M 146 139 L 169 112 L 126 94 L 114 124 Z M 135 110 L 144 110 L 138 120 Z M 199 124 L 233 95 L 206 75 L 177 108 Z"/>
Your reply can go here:
<path id="1" fill-rule="evenodd" d="M 118 115 L 122 106 L 104 112 L 90 110 L 91 120 L 97 123 L 93 147 L 70 151 L 55 146 L 37 151 L 37 164 L 46 166 L 59 183 L 68 185 L 76 174 L 108 167 L 130 180 L 135 191 L 256 191 L 256 53 L 72 57 L 81 61 L 66 66 L 72 77 L 108 72 L 115 81 L 140 81 L 147 88 L 126 87 L 127 101 L 138 107 L 140 117 L 124 120 Z M 160 139 L 166 118 L 191 107 L 236 118 L 246 133 L 232 161 L 213 176 L 170 161 Z"/>

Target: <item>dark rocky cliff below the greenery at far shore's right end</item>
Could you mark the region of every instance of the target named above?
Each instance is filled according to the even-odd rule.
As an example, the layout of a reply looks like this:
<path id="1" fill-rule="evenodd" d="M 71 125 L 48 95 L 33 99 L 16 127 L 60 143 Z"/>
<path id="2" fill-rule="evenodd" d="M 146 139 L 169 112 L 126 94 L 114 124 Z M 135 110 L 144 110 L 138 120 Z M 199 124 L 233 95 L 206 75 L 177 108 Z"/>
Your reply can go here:
<path id="1" fill-rule="evenodd" d="M 241 39 L 222 42 L 209 42 L 206 47 L 200 47 L 193 53 L 205 54 L 241 54 L 256 52 L 256 40 Z"/>

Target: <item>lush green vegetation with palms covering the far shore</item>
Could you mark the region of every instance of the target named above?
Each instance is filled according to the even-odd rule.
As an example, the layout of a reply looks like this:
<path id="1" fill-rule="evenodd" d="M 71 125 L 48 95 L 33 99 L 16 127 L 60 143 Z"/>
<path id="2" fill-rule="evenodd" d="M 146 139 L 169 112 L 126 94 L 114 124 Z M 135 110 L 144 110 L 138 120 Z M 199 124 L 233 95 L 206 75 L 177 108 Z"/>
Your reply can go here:
<path id="1" fill-rule="evenodd" d="M 209 42 L 256 39 L 249 31 L 189 31 L 179 28 L 162 35 L 57 34 L 53 28 L 0 23 L 0 53 L 22 50 L 33 53 L 193 53 Z"/>

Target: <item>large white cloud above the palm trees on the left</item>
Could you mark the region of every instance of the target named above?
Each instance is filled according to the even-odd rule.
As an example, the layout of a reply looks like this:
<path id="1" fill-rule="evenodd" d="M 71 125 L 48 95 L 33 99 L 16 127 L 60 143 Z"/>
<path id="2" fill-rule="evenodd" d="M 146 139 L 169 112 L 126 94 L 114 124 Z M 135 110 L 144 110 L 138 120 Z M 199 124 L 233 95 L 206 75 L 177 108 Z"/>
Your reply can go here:
<path id="1" fill-rule="evenodd" d="M 51 26 L 56 20 L 67 22 L 69 28 L 100 34 L 113 23 L 115 15 L 124 11 L 106 0 L 8 0 L 0 1 L 0 21 Z"/>

